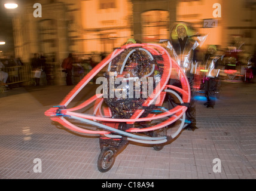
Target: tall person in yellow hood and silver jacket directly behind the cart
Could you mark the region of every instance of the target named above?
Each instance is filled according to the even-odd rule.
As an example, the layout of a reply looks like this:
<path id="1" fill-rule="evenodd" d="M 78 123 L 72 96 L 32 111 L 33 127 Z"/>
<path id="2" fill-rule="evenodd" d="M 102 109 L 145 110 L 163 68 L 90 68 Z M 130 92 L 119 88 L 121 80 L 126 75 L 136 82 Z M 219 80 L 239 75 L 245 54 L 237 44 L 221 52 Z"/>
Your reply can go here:
<path id="1" fill-rule="evenodd" d="M 173 31 L 175 30 L 175 31 Z M 188 109 L 186 110 L 186 124 L 184 125 L 187 130 L 196 130 L 196 101 L 193 99 L 195 91 L 194 85 L 194 66 L 196 65 L 196 48 L 199 45 L 197 41 L 194 41 L 188 36 L 188 27 L 185 23 L 178 23 L 176 27 L 173 27 L 171 32 L 171 38 L 168 42 L 167 48 L 170 49 L 171 57 L 184 71 L 190 84 L 191 100 L 188 103 Z M 173 35 L 174 34 L 174 35 Z M 170 79 L 170 85 L 181 87 L 181 82 L 178 78 Z M 169 107 L 173 106 L 173 98 L 168 97 Z"/>

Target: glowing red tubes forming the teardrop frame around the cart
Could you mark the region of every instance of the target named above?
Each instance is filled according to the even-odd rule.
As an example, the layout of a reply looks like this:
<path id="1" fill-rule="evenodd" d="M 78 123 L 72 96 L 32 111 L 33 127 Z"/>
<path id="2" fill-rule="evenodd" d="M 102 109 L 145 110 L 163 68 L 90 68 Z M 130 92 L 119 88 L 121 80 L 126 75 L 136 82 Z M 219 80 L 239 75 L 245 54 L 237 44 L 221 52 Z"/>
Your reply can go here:
<path id="1" fill-rule="evenodd" d="M 114 59 L 115 57 L 117 57 L 119 54 L 121 54 L 126 48 L 131 48 L 131 47 L 142 47 L 145 48 L 146 50 L 150 51 L 150 53 L 154 54 L 154 55 L 162 55 L 163 57 L 163 64 L 164 64 L 164 70 L 163 70 L 163 75 L 160 79 L 159 84 L 157 84 L 157 88 L 156 88 L 156 94 L 155 96 L 150 96 L 149 98 L 147 98 L 147 100 L 144 102 L 143 106 L 150 106 L 150 104 L 152 104 L 157 98 L 159 98 L 159 96 L 161 96 L 161 93 L 163 93 L 163 91 L 166 88 L 172 88 L 173 90 L 179 91 L 179 93 L 181 93 L 182 96 L 182 100 L 184 101 L 184 103 L 188 103 L 190 101 L 190 87 L 188 84 L 188 80 L 185 77 L 185 73 L 180 69 L 180 67 L 178 66 L 178 64 L 175 63 L 175 61 L 172 60 L 172 58 L 170 58 L 169 54 L 167 53 L 167 51 L 156 44 L 129 44 L 129 45 L 124 45 L 123 47 L 121 47 L 121 49 L 118 49 L 116 51 L 114 51 L 111 55 L 109 55 L 108 57 L 106 57 L 105 59 L 103 59 L 99 64 L 97 64 L 97 66 L 95 66 L 75 87 L 74 89 L 63 99 L 63 101 L 60 103 L 60 106 L 63 106 L 63 108 L 65 108 L 65 106 L 67 106 L 72 99 L 77 96 L 77 94 L 86 86 L 86 84 L 101 70 L 103 69 L 103 67 L 106 66 L 106 64 L 108 64 L 112 59 Z M 171 75 L 171 68 L 176 67 L 180 72 L 181 72 L 181 84 L 182 84 L 182 88 L 178 88 L 172 85 L 167 85 L 167 82 L 169 81 L 170 75 Z M 109 108 L 105 108 L 105 112 L 104 114 L 108 113 L 108 118 L 106 118 L 105 116 L 102 115 L 101 113 L 101 106 L 102 106 L 102 98 L 99 98 L 100 96 L 102 96 L 102 94 L 98 94 L 95 95 L 91 98 L 89 98 L 89 100 L 84 101 L 84 103 L 80 104 L 79 106 L 70 108 L 70 109 L 60 109 L 61 114 L 64 115 L 70 115 L 70 116 L 74 116 L 74 117 L 80 117 L 80 118 L 84 118 L 84 119 L 90 119 L 90 120 L 94 120 L 94 121 L 105 121 L 105 122 L 126 122 L 127 124 L 129 123 L 134 123 L 134 122 L 141 122 L 141 121 L 152 121 L 154 119 L 160 119 L 160 118 L 164 118 L 167 116 L 170 116 L 169 119 L 167 119 L 164 122 L 161 122 L 160 124 L 154 125 L 153 127 L 148 127 L 148 128 L 132 128 L 129 129 L 127 131 L 129 132 L 144 132 L 144 131 L 153 131 L 153 130 L 157 130 L 159 128 L 162 127 L 166 127 L 167 125 L 171 124 L 172 122 L 178 120 L 179 118 L 181 118 L 181 116 L 185 113 L 185 110 L 187 110 L 187 107 L 185 106 L 176 106 L 175 108 L 161 113 L 159 115 L 148 115 L 145 118 L 140 118 L 140 116 L 142 115 L 142 113 L 144 113 L 144 110 L 136 110 L 135 113 L 133 113 L 133 116 L 130 119 L 117 119 L 117 118 L 109 118 L 109 116 L 111 116 L 111 112 L 109 110 Z M 165 93 L 162 95 L 163 98 L 165 96 Z M 161 99 L 163 99 L 161 98 Z M 86 106 L 88 106 L 90 103 L 92 103 L 93 101 L 96 101 L 95 104 L 95 111 L 94 114 L 98 114 L 99 116 L 92 116 L 92 115 L 86 115 L 83 113 L 75 113 L 73 112 L 74 110 L 79 110 L 82 109 Z M 163 100 L 162 100 L 163 101 Z M 45 115 L 47 116 L 53 116 L 54 113 L 56 113 L 56 111 L 58 110 L 58 108 L 54 107 L 51 108 L 49 110 L 47 110 L 45 112 Z M 175 114 L 175 115 L 174 115 Z M 83 128 L 77 127 L 73 124 L 71 124 L 71 122 L 67 121 L 65 118 L 61 117 L 61 116 L 54 116 L 52 117 L 53 121 L 57 121 L 60 124 L 64 125 L 66 128 L 69 128 L 72 131 L 77 131 L 78 133 L 87 133 L 87 134 L 108 134 L 109 131 L 92 131 L 92 130 L 85 130 Z"/>

